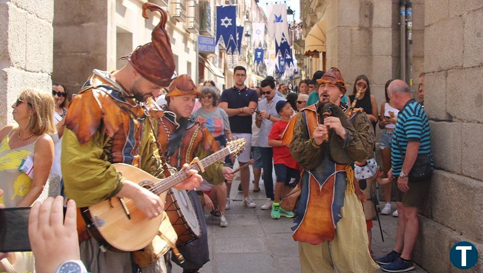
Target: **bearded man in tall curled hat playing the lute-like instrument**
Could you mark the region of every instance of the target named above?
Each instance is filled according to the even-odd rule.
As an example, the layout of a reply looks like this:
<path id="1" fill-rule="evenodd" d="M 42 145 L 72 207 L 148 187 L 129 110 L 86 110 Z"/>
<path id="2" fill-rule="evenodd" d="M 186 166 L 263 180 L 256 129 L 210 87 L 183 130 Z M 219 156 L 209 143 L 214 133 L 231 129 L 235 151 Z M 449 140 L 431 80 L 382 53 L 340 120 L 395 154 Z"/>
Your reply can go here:
<path id="1" fill-rule="evenodd" d="M 145 107 L 144 102 L 158 96 L 161 88 L 170 84 L 175 65 L 165 30 L 166 12 L 153 3 L 144 3 L 145 18 L 148 18 L 146 9 L 161 13 L 161 20 L 152 32 L 152 42 L 127 56 L 128 64 L 120 70 L 94 69 L 67 111 L 61 165 L 66 196 L 74 199 L 77 206 L 124 197 L 132 200 L 146 217 L 156 218 L 165 215 L 164 201 L 140 187 L 139 181 L 125 179 L 112 166 L 126 163 L 152 175 L 165 174 L 160 170 L 166 164 L 159 157 L 150 129 L 149 114 L 154 110 Z M 176 188 L 193 189 L 201 180 L 191 170 L 189 178 Z M 166 216 L 164 219 L 163 223 L 166 220 L 169 223 Z M 85 223 L 79 226 L 85 227 Z M 85 229 L 78 229 L 81 259 L 89 272 L 131 273 L 137 267 L 131 253 L 106 249 Z M 161 259 L 141 268 L 142 272 L 169 272 L 169 257 L 163 259 L 160 254 L 158 258 Z"/>

